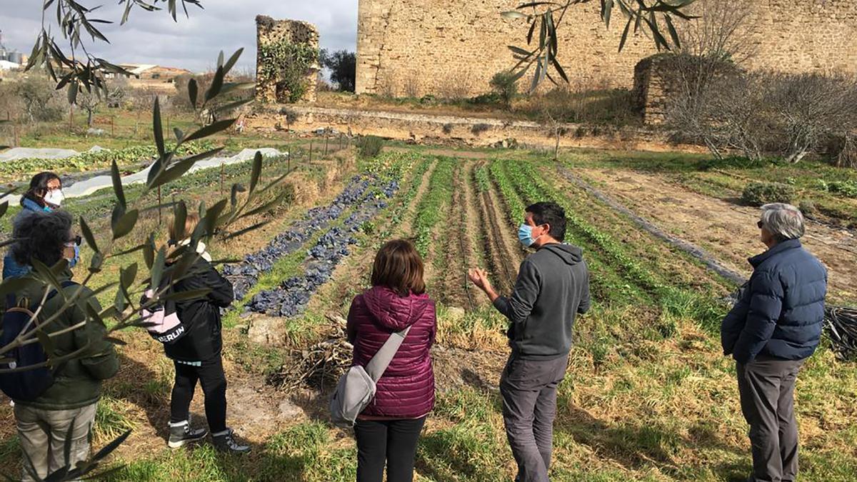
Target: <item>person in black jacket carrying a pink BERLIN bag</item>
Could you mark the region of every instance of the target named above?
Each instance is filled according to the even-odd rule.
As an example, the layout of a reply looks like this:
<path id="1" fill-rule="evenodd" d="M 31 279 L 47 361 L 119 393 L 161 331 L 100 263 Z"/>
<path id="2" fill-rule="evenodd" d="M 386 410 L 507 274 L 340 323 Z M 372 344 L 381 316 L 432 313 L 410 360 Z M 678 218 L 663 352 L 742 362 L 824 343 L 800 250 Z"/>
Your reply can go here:
<path id="1" fill-rule="evenodd" d="M 183 232 L 176 232 L 175 223 L 170 223 L 171 244 L 190 244 L 190 236 L 199 220 L 198 215 L 188 214 Z M 170 401 L 169 445 L 175 449 L 208 433 L 205 429 L 190 428 L 189 423 L 190 401 L 199 381 L 206 397 L 206 419 L 214 446 L 227 452 L 249 452 L 248 446 L 236 443 L 232 430 L 226 426 L 226 375 L 220 356 L 223 348 L 220 309 L 232 304 L 235 295 L 231 283 L 211 265 L 205 244 L 199 242 L 196 251 L 199 256 L 189 274 L 178 280 L 172 289 L 174 292 L 201 289 L 211 292 L 203 298 L 176 302 L 176 314 L 187 328 L 187 334 L 164 346 L 166 356 L 176 365 L 176 383 Z"/>

